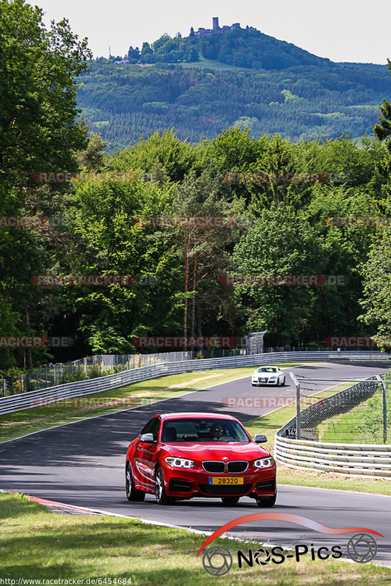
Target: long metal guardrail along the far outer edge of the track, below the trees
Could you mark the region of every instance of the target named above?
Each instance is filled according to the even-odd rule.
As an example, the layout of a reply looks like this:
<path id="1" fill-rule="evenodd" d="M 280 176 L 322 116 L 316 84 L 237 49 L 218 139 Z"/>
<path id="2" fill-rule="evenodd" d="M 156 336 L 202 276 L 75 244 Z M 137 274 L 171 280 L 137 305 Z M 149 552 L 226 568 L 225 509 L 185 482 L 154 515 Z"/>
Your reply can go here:
<path id="1" fill-rule="evenodd" d="M 169 362 L 144 366 L 141 369 L 124 370 L 116 374 L 97 379 L 81 380 L 73 383 L 60 384 L 39 391 L 30 391 L 11 397 L 0 398 L 0 415 L 22 411 L 37 406 L 37 399 L 55 397 L 61 400 L 70 397 L 80 397 L 102 391 L 111 391 L 125 384 L 138 383 L 142 380 L 156 379 L 168 374 L 179 374 L 193 370 L 210 370 L 219 368 L 237 368 L 243 366 L 261 366 L 262 364 L 284 362 L 335 362 L 341 360 L 342 353 L 337 352 L 270 352 L 250 356 L 230 356 L 225 358 L 208 358 L 200 360 L 184 360 L 183 362 Z M 382 352 L 344 352 L 344 360 L 388 360 L 390 355 Z"/>

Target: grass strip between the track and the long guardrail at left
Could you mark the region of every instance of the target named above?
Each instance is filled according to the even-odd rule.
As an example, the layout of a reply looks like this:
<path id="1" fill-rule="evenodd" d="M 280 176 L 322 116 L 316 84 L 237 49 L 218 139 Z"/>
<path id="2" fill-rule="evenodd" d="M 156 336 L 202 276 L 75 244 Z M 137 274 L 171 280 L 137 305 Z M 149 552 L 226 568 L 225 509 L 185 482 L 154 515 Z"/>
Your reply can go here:
<path id="1" fill-rule="evenodd" d="M 277 366 L 277 365 L 276 365 Z M 280 367 L 294 367 L 297 364 L 278 364 Z M 127 406 L 136 406 L 148 403 L 152 400 L 176 397 L 185 393 L 192 393 L 200 389 L 207 389 L 213 384 L 226 383 L 231 380 L 250 376 L 256 366 L 234 369 L 213 369 L 193 371 L 171 376 L 162 376 L 158 379 L 145 380 L 141 383 L 128 384 L 118 389 L 94 393 L 84 397 L 72 398 L 73 403 L 63 406 L 53 404 L 50 406 L 34 407 L 16 413 L 0 415 L 0 442 L 12 440 L 21 435 L 34 431 L 45 430 L 55 425 L 62 425 L 72 421 L 80 421 L 88 417 L 113 413 L 123 410 Z M 87 406 L 81 406 L 75 401 L 77 399 L 87 400 Z M 94 400 L 124 400 L 132 398 L 133 403 L 125 404 L 124 407 L 91 407 Z M 85 403 L 84 403 L 85 405 Z"/>

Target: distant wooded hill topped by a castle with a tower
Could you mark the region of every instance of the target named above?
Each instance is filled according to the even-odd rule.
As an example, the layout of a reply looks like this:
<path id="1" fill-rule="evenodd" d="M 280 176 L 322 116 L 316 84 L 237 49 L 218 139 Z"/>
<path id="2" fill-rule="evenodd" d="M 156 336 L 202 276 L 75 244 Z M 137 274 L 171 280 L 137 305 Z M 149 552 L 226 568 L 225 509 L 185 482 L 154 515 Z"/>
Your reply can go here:
<path id="1" fill-rule="evenodd" d="M 130 65 L 115 59 L 91 62 L 78 94 L 109 150 L 166 128 L 192 143 L 228 127 L 249 127 L 256 138 L 359 138 L 372 134 L 382 98 L 391 98 L 386 66 L 332 63 L 251 28 L 165 35 L 141 52 L 131 47 Z"/>

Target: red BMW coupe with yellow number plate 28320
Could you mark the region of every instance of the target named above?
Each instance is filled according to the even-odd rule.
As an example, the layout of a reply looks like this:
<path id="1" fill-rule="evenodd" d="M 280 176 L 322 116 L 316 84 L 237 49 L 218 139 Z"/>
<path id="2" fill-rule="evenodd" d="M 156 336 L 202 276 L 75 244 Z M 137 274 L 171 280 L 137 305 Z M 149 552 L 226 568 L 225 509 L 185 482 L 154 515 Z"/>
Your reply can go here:
<path id="1" fill-rule="evenodd" d="M 155 415 L 128 447 L 125 486 L 128 500 L 156 496 L 159 505 L 194 496 L 235 505 L 250 496 L 259 507 L 276 502 L 276 464 L 231 415 Z"/>

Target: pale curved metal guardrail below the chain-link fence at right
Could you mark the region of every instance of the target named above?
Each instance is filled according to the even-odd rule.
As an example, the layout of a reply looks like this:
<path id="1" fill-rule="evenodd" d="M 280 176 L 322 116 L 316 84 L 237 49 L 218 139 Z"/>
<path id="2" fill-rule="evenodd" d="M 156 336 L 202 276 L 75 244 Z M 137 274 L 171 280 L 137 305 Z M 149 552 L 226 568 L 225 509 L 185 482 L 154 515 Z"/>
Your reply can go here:
<path id="1" fill-rule="evenodd" d="M 391 445 L 332 444 L 276 434 L 274 457 L 289 468 L 391 478 Z"/>

